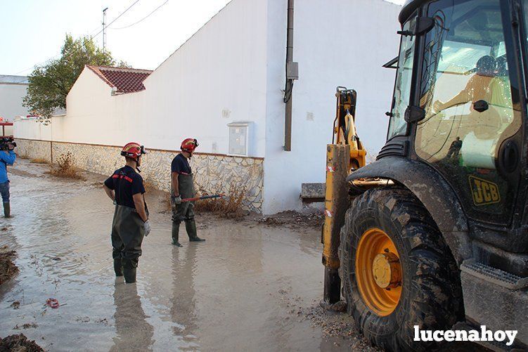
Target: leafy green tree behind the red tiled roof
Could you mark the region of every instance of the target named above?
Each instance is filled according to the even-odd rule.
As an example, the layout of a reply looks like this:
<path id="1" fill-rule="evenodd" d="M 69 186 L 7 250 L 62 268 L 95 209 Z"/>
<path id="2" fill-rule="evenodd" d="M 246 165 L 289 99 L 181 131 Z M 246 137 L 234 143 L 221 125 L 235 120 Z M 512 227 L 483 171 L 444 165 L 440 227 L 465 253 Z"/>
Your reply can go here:
<path id="1" fill-rule="evenodd" d="M 24 105 L 46 119 L 55 110 L 65 108 L 67 93 L 84 65 L 128 67 L 123 61 L 116 63 L 110 52 L 98 48 L 91 37 L 73 39 L 66 34 L 60 58 L 35 67 L 30 74 Z"/>

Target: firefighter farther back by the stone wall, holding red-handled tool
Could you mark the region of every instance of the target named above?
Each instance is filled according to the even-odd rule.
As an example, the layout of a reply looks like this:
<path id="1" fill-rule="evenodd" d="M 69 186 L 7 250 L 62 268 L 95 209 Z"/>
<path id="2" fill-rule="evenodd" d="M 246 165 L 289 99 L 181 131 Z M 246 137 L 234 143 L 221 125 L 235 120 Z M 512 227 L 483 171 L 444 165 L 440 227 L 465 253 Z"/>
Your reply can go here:
<path id="1" fill-rule="evenodd" d="M 196 233 L 194 221 L 194 202 L 182 202 L 182 199 L 194 197 L 193 173 L 189 159 L 198 147 L 198 141 L 187 138 L 181 142 L 181 152 L 172 159 L 172 244 L 181 247 L 179 242 L 179 230 L 181 221 L 185 221 L 185 229 L 191 242 L 205 241 Z"/>

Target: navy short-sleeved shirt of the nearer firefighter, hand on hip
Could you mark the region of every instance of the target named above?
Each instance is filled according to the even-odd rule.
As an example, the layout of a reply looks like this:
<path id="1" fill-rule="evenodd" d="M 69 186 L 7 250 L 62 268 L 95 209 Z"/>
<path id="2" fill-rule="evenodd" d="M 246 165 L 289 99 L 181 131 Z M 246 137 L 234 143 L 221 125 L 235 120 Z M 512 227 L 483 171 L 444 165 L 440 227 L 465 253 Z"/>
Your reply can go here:
<path id="1" fill-rule="evenodd" d="M 133 195 L 145 193 L 143 178 L 128 165 L 117 169 L 106 179 L 105 186 L 115 190 L 115 202 L 124 207 L 136 208 Z"/>

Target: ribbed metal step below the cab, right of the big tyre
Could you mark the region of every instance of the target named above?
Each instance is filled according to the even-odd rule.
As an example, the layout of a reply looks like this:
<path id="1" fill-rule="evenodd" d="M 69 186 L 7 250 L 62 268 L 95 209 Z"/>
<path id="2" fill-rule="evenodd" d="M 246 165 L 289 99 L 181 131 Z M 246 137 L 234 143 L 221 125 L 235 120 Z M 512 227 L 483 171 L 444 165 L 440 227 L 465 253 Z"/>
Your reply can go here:
<path id="1" fill-rule="evenodd" d="M 528 287 L 528 278 L 521 278 L 512 273 L 507 273 L 504 270 L 479 263 L 474 259 L 465 260 L 461 265 L 461 271 L 474 275 L 477 278 L 482 278 L 482 280 L 491 281 L 507 289 L 523 289 L 524 287 Z"/>

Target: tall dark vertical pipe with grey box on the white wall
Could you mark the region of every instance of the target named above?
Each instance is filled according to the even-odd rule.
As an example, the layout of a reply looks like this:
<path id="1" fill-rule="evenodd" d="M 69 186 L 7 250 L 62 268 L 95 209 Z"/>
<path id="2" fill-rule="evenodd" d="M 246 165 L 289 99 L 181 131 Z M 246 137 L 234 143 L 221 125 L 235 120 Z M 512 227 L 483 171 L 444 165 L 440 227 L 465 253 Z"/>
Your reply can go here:
<path id="1" fill-rule="evenodd" d="M 292 92 L 293 81 L 299 79 L 299 65 L 293 62 L 293 1 L 288 0 L 288 30 L 286 38 L 286 86 L 284 89 L 285 124 L 284 150 L 292 150 Z"/>

